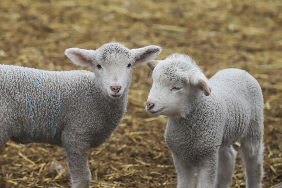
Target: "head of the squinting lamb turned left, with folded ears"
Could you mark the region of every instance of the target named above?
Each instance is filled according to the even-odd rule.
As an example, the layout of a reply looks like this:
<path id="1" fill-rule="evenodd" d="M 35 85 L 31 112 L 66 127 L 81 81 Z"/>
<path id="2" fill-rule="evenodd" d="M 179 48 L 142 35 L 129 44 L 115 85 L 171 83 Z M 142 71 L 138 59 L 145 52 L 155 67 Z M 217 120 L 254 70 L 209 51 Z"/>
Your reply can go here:
<path id="1" fill-rule="evenodd" d="M 173 54 L 165 60 L 152 60 L 153 85 L 146 110 L 154 115 L 180 115 L 189 111 L 189 100 L 210 95 L 209 81 L 187 55 Z"/>

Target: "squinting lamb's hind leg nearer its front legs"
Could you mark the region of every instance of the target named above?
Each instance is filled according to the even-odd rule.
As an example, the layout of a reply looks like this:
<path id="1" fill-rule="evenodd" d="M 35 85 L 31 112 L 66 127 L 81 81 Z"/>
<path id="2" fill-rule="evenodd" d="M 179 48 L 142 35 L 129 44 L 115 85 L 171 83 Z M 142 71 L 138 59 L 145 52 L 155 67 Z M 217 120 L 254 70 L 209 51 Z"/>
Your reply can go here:
<path id="1" fill-rule="evenodd" d="M 232 145 L 219 150 L 217 188 L 228 188 L 232 181 L 236 151 Z"/>

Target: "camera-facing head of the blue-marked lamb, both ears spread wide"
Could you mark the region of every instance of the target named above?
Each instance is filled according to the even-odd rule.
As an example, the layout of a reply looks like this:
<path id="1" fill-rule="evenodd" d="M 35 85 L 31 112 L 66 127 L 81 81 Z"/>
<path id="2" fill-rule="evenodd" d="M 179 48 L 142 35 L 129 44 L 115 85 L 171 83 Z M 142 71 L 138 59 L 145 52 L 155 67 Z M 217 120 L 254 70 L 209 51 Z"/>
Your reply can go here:
<path id="1" fill-rule="evenodd" d="M 161 51 L 158 46 L 130 50 L 119 43 L 108 43 L 96 50 L 70 48 L 65 54 L 74 64 L 93 69 L 97 85 L 105 95 L 119 98 L 130 86 L 133 67 L 146 65 Z"/>

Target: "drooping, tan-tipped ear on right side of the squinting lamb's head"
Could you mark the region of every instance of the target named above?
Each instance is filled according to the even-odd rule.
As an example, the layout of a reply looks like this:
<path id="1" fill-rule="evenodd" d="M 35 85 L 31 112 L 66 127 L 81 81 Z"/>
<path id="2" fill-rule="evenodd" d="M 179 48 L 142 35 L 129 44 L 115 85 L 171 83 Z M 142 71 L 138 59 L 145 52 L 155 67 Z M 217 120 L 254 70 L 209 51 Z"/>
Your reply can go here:
<path id="1" fill-rule="evenodd" d="M 211 94 L 209 80 L 202 72 L 194 72 L 190 77 L 190 83 L 191 85 L 196 86 L 200 90 L 202 90 L 206 96 L 209 96 Z"/>

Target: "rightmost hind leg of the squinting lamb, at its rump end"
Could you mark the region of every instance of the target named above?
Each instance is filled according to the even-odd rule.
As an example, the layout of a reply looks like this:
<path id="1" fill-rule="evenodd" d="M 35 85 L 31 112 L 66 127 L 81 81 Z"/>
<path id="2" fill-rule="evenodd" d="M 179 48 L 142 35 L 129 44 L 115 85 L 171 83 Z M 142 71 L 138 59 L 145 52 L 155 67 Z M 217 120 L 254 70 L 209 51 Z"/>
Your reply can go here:
<path id="1" fill-rule="evenodd" d="M 247 178 L 246 187 L 260 188 L 263 180 L 263 141 L 244 140 L 241 143 L 241 151 Z"/>

